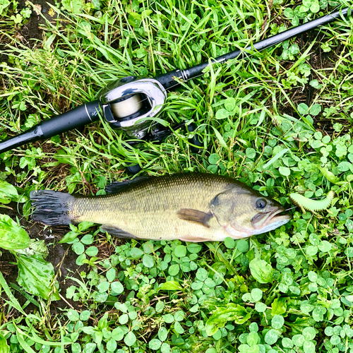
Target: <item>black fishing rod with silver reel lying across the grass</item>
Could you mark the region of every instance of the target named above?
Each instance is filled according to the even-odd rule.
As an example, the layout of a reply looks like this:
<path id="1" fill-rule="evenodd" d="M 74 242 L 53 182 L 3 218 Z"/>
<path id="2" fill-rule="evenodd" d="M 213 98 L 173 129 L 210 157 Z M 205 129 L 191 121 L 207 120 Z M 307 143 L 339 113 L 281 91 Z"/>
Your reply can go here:
<path id="1" fill-rule="evenodd" d="M 51 138 L 59 133 L 90 124 L 100 119 L 100 111 L 112 128 L 121 129 L 132 138 L 153 140 L 158 136 L 164 136 L 163 131 L 162 133 L 160 131 L 148 133 L 148 129 L 153 122 L 152 118 L 160 112 L 167 99 L 167 90 L 177 87 L 180 80 L 185 82 L 203 75 L 203 69 L 210 64 L 225 64 L 232 59 L 244 59 L 254 51 L 261 52 L 289 38 L 330 23 L 340 16 L 347 16 L 348 11 L 348 7 L 343 8 L 341 11 L 330 13 L 256 42 L 245 49 L 235 50 L 218 56 L 210 62 L 204 62 L 185 70 L 178 68 L 155 78 L 128 76 L 116 80 L 100 92 L 97 100 L 42 121 L 24 133 L 4 140 L 0 143 L 0 153 L 25 143 Z M 189 128 L 189 131 L 192 131 L 193 128 Z M 191 142 L 195 145 L 201 145 L 197 138 L 193 138 Z"/>

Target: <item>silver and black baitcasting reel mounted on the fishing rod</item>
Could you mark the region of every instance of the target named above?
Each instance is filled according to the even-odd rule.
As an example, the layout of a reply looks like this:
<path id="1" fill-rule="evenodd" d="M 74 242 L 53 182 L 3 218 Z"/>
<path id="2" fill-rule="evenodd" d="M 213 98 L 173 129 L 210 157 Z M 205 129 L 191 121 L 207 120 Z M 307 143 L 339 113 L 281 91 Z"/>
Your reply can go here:
<path id="1" fill-rule="evenodd" d="M 167 91 L 153 78 L 128 76 L 116 80 L 100 94 L 105 119 L 133 138 L 144 138 L 150 118 L 162 109 Z"/>

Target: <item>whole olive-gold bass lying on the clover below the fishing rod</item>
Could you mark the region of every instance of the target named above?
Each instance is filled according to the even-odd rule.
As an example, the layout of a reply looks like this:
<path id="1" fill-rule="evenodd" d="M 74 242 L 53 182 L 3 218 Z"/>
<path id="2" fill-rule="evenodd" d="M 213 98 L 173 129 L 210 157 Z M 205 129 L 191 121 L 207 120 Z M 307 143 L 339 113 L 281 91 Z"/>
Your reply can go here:
<path id="1" fill-rule="evenodd" d="M 104 196 L 31 191 L 32 220 L 44 225 L 93 222 L 119 238 L 201 242 L 251 237 L 291 219 L 277 201 L 216 174 L 138 177 L 115 181 L 106 191 Z"/>

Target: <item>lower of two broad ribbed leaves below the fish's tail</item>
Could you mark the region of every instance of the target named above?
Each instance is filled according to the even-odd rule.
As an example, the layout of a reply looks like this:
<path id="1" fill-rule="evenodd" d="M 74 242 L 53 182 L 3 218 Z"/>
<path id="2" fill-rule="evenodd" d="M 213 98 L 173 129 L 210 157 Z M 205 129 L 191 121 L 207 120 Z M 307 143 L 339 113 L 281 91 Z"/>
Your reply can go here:
<path id="1" fill-rule="evenodd" d="M 30 294 L 52 300 L 59 300 L 59 294 L 53 291 L 54 267 L 39 256 L 18 256 L 18 285 Z"/>

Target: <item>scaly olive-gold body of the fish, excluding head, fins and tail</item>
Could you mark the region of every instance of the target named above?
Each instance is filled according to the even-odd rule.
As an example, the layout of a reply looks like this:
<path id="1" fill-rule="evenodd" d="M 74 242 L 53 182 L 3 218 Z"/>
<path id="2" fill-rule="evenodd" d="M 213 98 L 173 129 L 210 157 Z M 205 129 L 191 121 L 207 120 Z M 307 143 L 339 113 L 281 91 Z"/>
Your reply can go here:
<path id="1" fill-rule="evenodd" d="M 177 216 L 181 208 L 207 213 L 213 198 L 229 185 L 226 178 L 217 180 L 215 183 L 197 175 L 151 178 L 116 195 L 77 198 L 71 212 L 75 222 L 111 225 L 143 239 L 167 240 L 193 234 L 210 240 L 225 238 L 229 234 L 217 224 L 204 227 Z"/>

